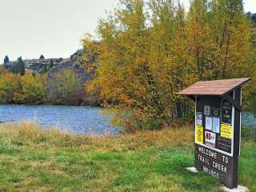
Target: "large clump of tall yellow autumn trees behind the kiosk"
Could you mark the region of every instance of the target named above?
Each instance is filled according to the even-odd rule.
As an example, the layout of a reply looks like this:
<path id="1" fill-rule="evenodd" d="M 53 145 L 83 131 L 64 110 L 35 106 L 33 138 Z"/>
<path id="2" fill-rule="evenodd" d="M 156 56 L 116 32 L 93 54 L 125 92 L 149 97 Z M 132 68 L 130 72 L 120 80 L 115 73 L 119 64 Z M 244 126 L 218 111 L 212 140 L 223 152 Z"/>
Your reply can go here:
<path id="1" fill-rule="evenodd" d="M 86 61 L 97 68 L 86 89 L 130 129 L 168 125 L 190 113 L 178 90 L 252 73 L 249 30 L 239 0 L 194 0 L 188 13 L 171 0 L 122 0 L 99 21 L 100 41 L 82 40 L 98 57 Z"/>

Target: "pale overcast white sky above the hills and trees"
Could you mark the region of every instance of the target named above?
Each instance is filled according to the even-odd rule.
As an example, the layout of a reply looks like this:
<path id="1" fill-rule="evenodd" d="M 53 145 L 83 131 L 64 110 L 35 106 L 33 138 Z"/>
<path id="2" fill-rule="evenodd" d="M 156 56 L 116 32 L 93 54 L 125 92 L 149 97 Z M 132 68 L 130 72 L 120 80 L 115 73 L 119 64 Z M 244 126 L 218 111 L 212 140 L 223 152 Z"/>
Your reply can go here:
<path id="1" fill-rule="evenodd" d="M 186 7 L 190 0 L 180 0 Z M 118 0 L 0 0 L 0 63 L 18 57 L 68 58 L 86 33 L 95 35 L 99 18 Z M 256 13 L 256 0 L 244 1 Z"/>

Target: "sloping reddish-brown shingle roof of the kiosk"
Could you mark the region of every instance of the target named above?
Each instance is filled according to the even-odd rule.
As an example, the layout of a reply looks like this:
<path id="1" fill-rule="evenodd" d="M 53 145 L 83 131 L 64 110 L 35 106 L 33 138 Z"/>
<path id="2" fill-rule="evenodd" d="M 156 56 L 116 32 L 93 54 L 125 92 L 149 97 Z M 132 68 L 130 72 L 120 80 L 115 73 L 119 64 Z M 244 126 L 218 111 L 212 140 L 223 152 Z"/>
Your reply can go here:
<path id="1" fill-rule="evenodd" d="M 231 78 L 214 81 L 196 82 L 178 95 L 224 95 L 238 86 L 248 82 L 250 78 Z"/>

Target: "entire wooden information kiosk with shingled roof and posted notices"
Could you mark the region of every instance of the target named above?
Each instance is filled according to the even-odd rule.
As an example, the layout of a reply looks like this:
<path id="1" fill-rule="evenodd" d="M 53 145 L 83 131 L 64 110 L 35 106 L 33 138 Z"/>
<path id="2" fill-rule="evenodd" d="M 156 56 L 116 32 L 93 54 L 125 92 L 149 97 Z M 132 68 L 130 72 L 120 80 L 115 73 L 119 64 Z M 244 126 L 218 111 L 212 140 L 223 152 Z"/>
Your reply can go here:
<path id="1" fill-rule="evenodd" d="M 196 82 L 178 95 L 195 102 L 194 165 L 230 187 L 238 186 L 242 84 L 250 78 Z"/>

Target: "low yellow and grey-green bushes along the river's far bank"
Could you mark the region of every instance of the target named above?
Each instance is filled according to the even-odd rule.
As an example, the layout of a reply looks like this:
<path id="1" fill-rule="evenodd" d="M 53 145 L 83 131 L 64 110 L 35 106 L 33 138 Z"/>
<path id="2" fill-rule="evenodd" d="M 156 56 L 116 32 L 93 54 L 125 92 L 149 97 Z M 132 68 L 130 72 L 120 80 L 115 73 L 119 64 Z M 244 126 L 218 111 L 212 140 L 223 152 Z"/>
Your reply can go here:
<path id="1" fill-rule="evenodd" d="M 55 68 L 54 68 L 55 69 Z M 72 69 L 54 74 L 13 74 L 0 67 L 0 103 L 97 106 L 86 94 L 82 78 Z"/>

